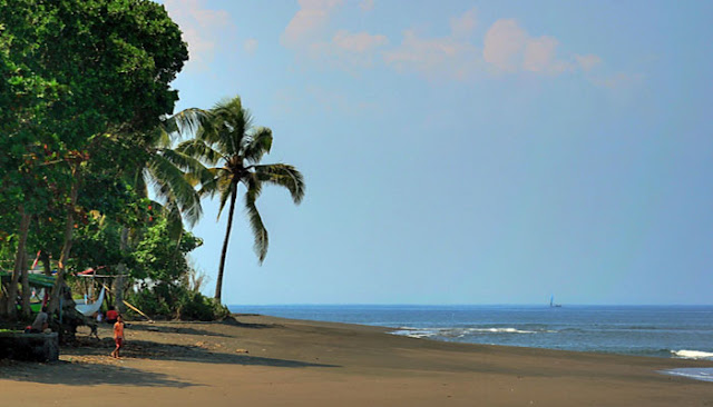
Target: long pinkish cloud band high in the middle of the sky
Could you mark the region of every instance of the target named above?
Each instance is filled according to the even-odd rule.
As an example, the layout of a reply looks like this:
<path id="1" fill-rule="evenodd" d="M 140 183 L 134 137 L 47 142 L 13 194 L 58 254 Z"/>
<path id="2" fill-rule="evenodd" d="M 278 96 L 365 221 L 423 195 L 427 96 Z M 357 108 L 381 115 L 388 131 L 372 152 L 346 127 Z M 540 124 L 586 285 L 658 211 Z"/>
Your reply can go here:
<path id="1" fill-rule="evenodd" d="M 531 37 L 515 19 L 499 19 L 476 37 L 477 10 L 450 18 L 450 34 L 429 38 L 414 29 L 403 31 L 402 40 L 389 47 L 383 34 L 352 32 L 332 28 L 330 20 L 344 0 L 299 0 L 300 9 L 285 28 L 281 42 L 320 67 L 346 71 L 372 67 L 380 61 L 399 72 L 417 72 L 429 80 L 471 80 L 486 72 L 557 76 L 567 71 L 588 71 L 600 63 L 595 54 L 558 54 L 559 40 L 551 36 Z M 362 0 L 371 10 L 373 0 Z"/>

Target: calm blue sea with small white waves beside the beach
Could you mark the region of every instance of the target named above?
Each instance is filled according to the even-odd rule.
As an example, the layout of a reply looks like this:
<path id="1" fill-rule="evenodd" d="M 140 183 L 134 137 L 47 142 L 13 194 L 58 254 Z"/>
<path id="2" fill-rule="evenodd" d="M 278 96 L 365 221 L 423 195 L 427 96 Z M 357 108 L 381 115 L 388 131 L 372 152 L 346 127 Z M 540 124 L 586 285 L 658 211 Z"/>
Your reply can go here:
<path id="1" fill-rule="evenodd" d="M 713 306 L 229 306 L 442 341 L 713 360 Z"/>

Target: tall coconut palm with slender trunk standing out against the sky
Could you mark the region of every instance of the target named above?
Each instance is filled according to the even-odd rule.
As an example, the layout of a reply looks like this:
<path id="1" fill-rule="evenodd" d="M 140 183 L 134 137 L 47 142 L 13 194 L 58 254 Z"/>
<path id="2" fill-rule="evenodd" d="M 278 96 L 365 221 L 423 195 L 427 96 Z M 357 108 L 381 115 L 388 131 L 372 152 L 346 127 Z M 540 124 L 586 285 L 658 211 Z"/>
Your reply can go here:
<path id="1" fill-rule="evenodd" d="M 199 193 L 213 196 L 218 193 L 221 207 L 218 218 L 225 204 L 228 209 L 225 240 L 221 252 L 218 278 L 215 286 L 215 298 L 219 301 L 225 256 L 231 238 L 233 215 L 237 189 L 245 186 L 245 209 L 255 238 L 254 249 L 262 264 L 267 254 L 267 230 L 263 225 L 255 202 L 263 183 L 286 188 L 295 205 L 304 197 L 302 175 L 293 166 L 286 163 L 258 165 L 272 147 L 272 130 L 265 127 L 253 127 L 250 112 L 243 108 L 240 97 L 218 102 L 203 120 L 193 140 L 182 142 L 177 150 L 196 157 L 208 166 L 213 175 L 212 182 L 203 183 Z"/>

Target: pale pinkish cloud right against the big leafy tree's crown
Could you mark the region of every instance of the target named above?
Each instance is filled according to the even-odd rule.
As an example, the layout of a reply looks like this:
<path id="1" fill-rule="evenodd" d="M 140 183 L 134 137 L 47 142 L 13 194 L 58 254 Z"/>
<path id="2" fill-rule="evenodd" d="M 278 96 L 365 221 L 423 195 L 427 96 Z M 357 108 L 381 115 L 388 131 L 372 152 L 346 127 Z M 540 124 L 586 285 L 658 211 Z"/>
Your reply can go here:
<path id="1" fill-rule="evenodd" d="M 208 69 L 218 39 L 232 27 L 228 13 L 206 9 L 203 0 L 166 0 L 164 6 L 180 27 L 183 40 L 188 43 L 191 59 L 186 69 Z"/>

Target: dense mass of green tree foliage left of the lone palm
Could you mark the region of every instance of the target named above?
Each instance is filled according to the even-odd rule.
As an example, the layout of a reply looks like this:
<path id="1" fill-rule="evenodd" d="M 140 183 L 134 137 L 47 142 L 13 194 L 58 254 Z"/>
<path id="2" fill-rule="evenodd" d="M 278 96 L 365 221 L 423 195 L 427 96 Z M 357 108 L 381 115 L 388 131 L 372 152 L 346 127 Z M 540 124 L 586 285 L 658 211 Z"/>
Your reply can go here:
<path id="1" fill-rule="evenodd" d="M 169 148 L 177 121 L 159 120 L 186 60 L 178 27 L 154 1 L 0 0 L 0 260 L 16 255 L 21 207 L 33 219 L 28 251 L 57 260 L 71 248 L 64 262 L 79 270 L 127 266 L 138 288 L 129 298 L 154 316 L 227 315 L 188 284 L 186 255 L 202 240 L 182 218 L 201 216 L 194 186 L 212 177 Z M 195 127 L 206 113 L 177 117 Z M 271 142 L 261 136 L 251 157 Z M 152 185 L 160 204 L 148 199 Z"/>

